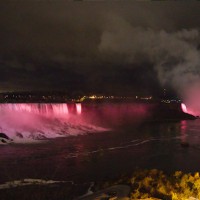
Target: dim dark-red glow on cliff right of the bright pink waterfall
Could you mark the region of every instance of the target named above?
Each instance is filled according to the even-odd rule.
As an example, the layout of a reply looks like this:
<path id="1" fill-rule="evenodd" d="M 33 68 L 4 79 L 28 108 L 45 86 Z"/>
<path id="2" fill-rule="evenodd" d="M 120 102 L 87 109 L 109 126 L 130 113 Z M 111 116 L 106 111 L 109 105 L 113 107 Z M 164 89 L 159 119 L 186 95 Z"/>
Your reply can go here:
<path id="1" fill-rule="evenodd" d="M 123 124 L 139 124 L 151 117 L 155 104 L 146 103 L 91 103 L 84 104 L 83 119 L 98 126 L 118 127 Z"/>

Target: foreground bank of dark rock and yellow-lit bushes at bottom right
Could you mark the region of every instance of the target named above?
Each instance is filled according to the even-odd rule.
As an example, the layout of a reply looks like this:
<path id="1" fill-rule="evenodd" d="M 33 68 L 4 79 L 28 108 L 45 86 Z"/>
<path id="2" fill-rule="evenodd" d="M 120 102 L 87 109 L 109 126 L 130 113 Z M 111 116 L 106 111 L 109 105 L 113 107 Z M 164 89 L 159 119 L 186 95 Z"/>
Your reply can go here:
<path id="1" fill-rule="evenodd" d="M 108 187 L 108 185 L 116 184 Z M 123 184 L 123 185 L 122 185 Z M 176 171 L 166 175 L 162 171 L 140 170 L 131 177 L 122 177 L 113 183 L 105 183 L 105 189 L 90 194 L 82 200 L 197 200 L 200 199 L 200 175 Z"/>

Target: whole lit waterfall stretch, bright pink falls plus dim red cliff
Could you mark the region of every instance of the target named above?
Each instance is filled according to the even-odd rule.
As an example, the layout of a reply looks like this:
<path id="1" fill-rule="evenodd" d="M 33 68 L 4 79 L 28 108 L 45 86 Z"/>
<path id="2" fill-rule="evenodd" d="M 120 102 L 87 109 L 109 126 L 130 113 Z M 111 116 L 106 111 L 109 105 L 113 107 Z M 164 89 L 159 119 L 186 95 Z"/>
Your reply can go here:
<path id="1" fill-rule="evenodd" d="M 84 112 L 81 103 L 1 103 L 0 128 L 14 142 L 31 142 L 138 124 L 151 110 L 152 105 L 134 103 L 84 104 Z"/>

